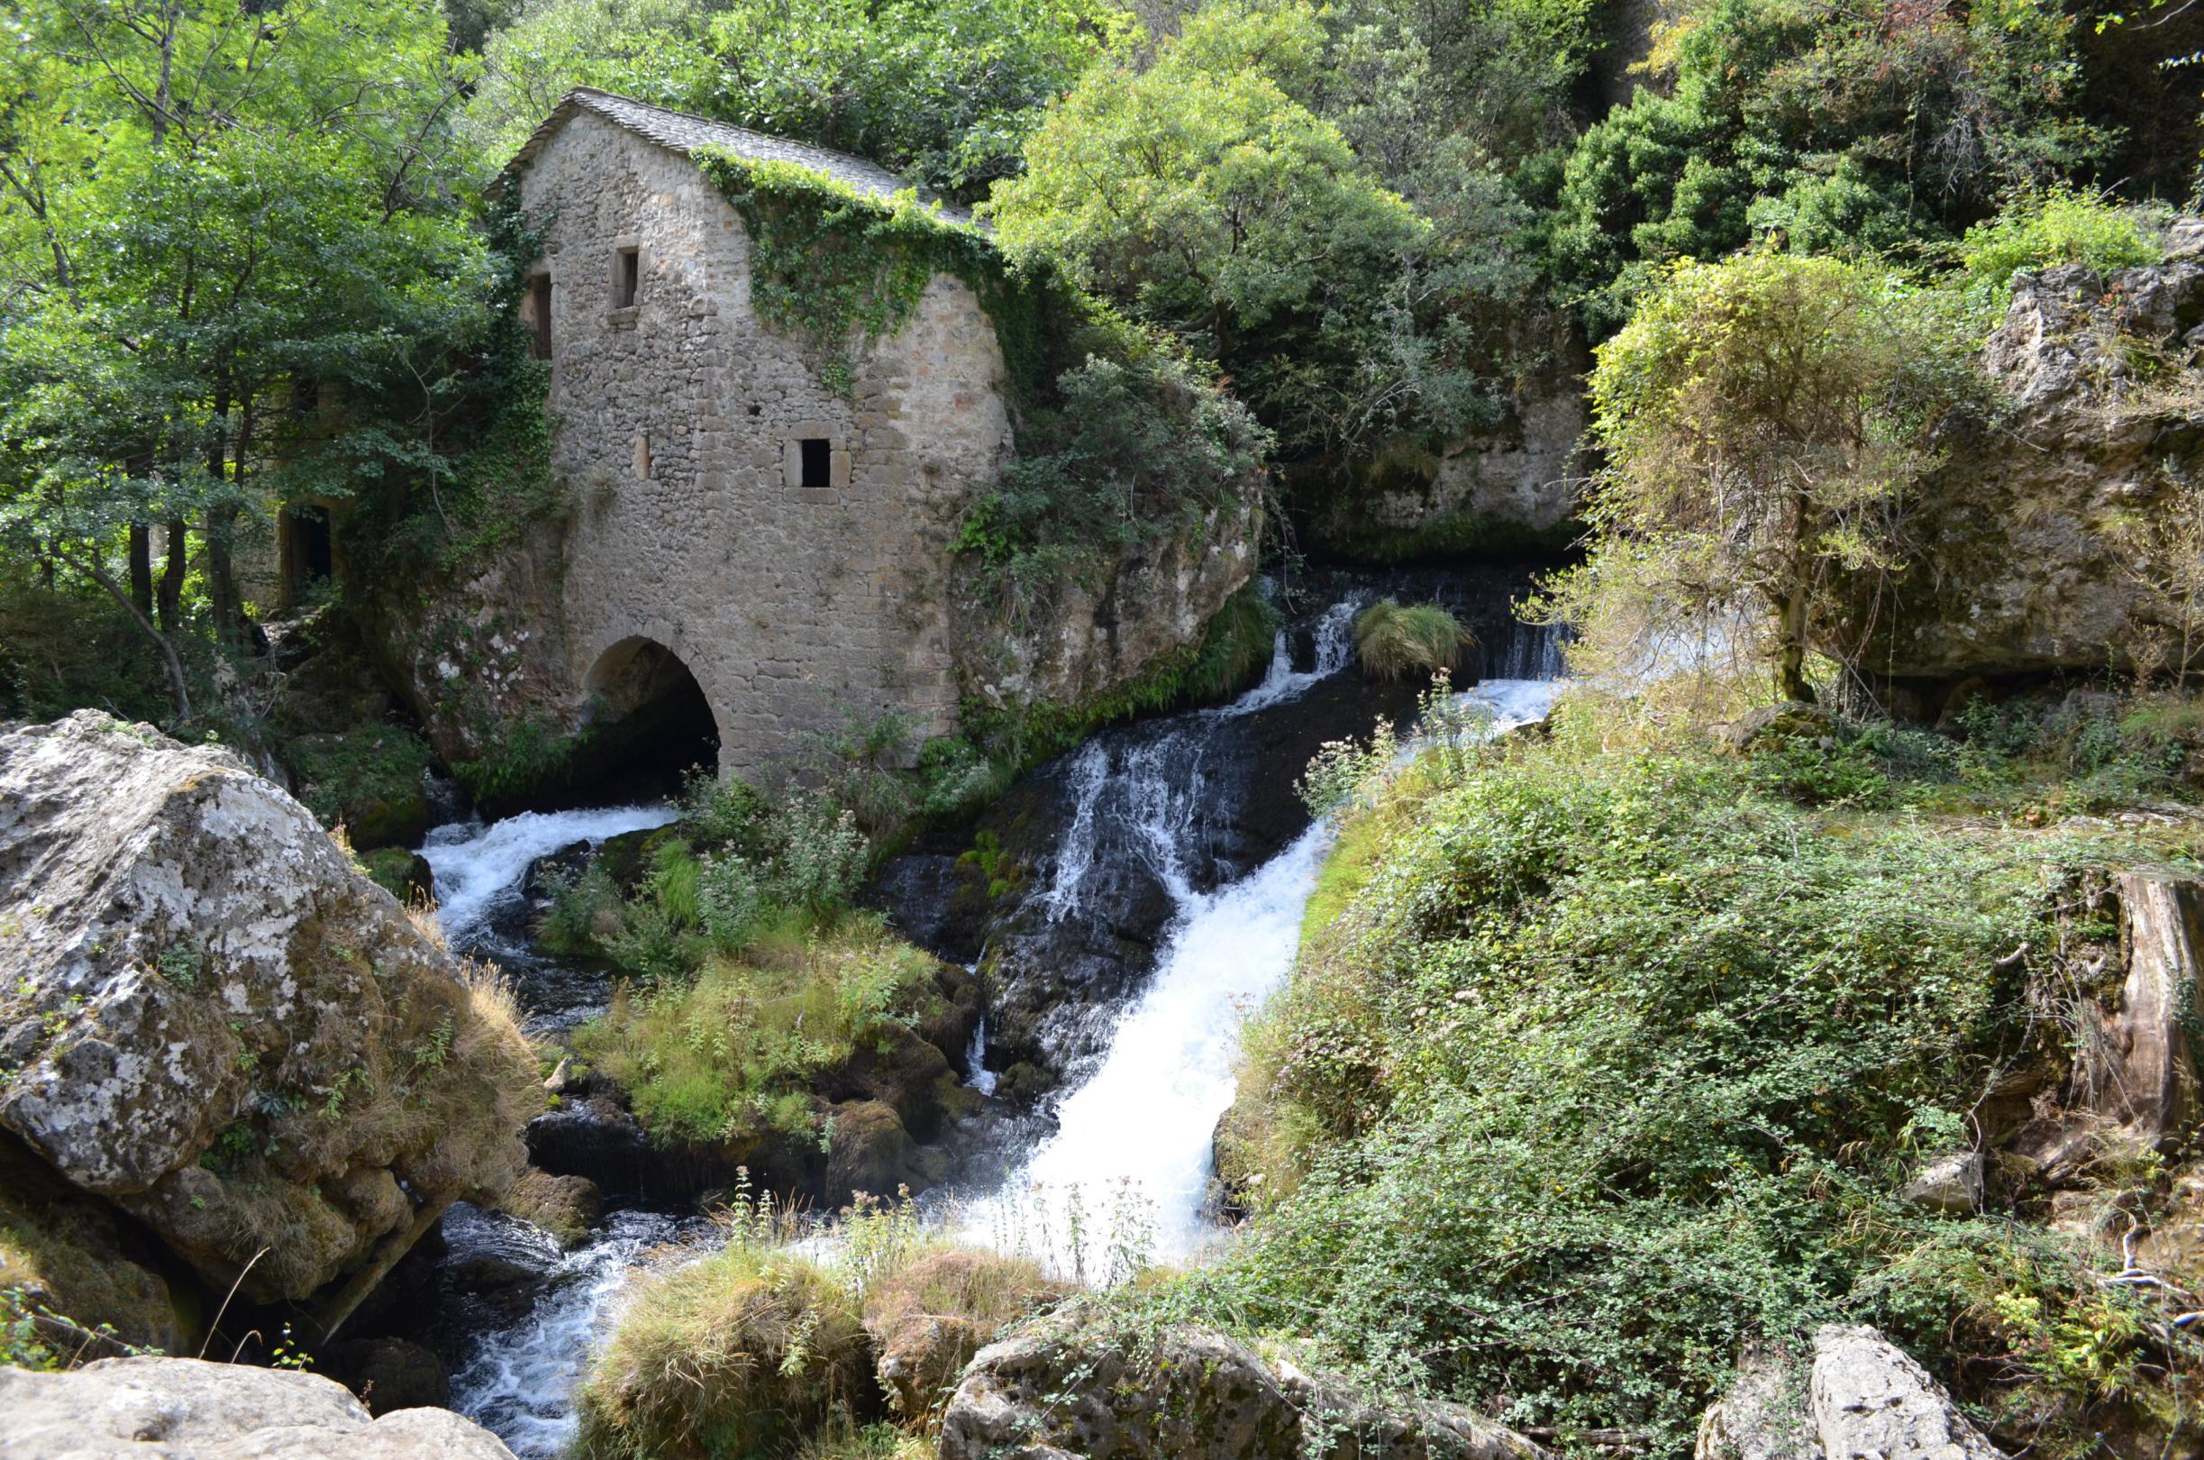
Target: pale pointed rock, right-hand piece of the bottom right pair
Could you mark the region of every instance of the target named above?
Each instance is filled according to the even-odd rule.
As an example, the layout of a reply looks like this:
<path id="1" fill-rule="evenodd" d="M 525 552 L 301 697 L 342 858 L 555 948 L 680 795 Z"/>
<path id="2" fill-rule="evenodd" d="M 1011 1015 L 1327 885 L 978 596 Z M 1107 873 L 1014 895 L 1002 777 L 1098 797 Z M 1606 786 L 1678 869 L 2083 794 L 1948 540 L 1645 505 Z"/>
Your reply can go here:
<path id="1" fill-rule="evenodd" d="M 2003 1460 L 1922 1365 L 1873 1328 L 1814 1334 L 1814 1429 L 1825 1460 Z"/>

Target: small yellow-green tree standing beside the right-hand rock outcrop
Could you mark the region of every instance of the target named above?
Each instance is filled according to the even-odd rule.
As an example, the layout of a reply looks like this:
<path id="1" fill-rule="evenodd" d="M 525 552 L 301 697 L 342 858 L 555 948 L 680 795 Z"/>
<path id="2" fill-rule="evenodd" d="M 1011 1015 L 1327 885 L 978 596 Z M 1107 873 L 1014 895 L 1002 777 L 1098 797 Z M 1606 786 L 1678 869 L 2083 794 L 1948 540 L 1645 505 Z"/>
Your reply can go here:
<path id="1" fill-rule="evenodd" d="M 1666 620 L 1741 615 L 1785 699 L 1809 648 L 1849 659 L 1860 578 L 1898 565 L 1906 485 L 1929 465 L 1911 388 L 1940 353 L 1882 271 L 1750 251 L 1686 262 L 1598 351 L 1593 556 L 1565 600 L 1611 662 Z"/>

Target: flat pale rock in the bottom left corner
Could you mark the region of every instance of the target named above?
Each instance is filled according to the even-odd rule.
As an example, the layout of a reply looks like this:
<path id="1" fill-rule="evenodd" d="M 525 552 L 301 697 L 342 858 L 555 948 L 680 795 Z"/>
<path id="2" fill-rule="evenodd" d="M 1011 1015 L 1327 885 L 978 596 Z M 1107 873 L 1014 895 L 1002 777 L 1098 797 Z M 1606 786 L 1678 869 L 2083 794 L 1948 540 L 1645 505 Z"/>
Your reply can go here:
<path id="1" fill-rule="evenodd" d="M 198 1359 L 101 1359 L 66 1374 L 0 1370 L 0 1460 L 511 1460 L 450 1409 L 370 1418 L 335 1381 Z"/>

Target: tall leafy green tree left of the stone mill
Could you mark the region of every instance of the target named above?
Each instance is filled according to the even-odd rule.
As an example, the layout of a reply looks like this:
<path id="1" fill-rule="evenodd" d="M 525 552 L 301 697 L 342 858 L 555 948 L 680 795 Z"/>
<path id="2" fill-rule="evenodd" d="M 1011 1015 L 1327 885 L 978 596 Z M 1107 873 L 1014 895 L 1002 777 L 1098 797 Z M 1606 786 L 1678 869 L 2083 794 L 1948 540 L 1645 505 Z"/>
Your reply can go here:
<path id="1" fill-rule="evenodd" d="M 355 465 L 298 401 L 381 401 L 408 342 L 478 326 L 483 247 L 452 205 L 469 73 L 406 0 L 62 0 L 11 20 L 35 60 L 15 60 L 0 132 L 0 434 L 24 443 L 0 527 L 132 611 L 187 719 L 170 642 L 187 532 L 236 644 L 240 518 L 306 476 L 342 496 Z M 154 523 L 170 562 L 150 615 Z"/>

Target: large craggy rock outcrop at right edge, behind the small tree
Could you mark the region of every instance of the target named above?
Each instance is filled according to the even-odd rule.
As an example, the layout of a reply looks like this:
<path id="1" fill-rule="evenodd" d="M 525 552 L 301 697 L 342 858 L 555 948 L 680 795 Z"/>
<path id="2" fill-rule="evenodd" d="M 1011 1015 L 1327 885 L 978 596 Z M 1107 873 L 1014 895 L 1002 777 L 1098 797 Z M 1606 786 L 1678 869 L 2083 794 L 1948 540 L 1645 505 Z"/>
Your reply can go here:
<path id="1" fill-rule="evenodd" d="M 2180 254 L 2180 249 L 2173 249 Z M 2142 635 L 2180 646 L 2138 582 L 2125 529 L 2204 472 L 2191 408 L 2144 390 L 2129 351 L 2195 366 L 2204 256 L 2096 273 L 2061 265 L 2012 282 L 1981 364 L 2006 419 L 1948 432 L 1911 527 L 1922 560 L 1895 582 L 1867 653 L 1891 679 L 1953 681 L 2127 664 Z M 2125 340 L 2122 340 L 2125 329 Z M 2193 379 L 2193 377 L 2191 377 Z M 2164 565 L 2142 560 L 2142 576 Z"/>

